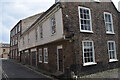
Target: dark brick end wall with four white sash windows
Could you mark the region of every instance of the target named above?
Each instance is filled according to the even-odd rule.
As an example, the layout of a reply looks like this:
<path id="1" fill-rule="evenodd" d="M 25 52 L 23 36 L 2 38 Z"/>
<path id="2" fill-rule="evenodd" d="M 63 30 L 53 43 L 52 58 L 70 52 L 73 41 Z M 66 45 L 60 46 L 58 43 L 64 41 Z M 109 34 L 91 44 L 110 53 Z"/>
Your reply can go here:
<path id="1" fill-rule="evenodd" d="M 118 12 L 112 3 L 62 3 L 63 9 L 63 24 L 65 36 L 73 40 L 74 52 L 76 55 L 75 62 L 77 66 L 76 73 L 81 75 L 118 67 L 118 62 L 109 62 L 107 41 L 113 40 L 116 43 L 116 53 L 118 60 Z M 71 7 L 72 6 L 72 7 Z M 93 33 L 80 32 L 78 6 L 87 7 L 91 11 Z M 98 10 L 99 9 L 99 10 Z M 74 11 L 73 11 L 74 10 Z M 112 13 L 113 27 L 115 34 L 106 34 L 104 22 L 104 12 Z M 68 16 L 66 18 L 66 15 Z M 83 50 L 82 41 L 94 41 L 95 61 L 96 65 L 83 66 Z M 74 67 L 73 67 L 74 68 Z"/>

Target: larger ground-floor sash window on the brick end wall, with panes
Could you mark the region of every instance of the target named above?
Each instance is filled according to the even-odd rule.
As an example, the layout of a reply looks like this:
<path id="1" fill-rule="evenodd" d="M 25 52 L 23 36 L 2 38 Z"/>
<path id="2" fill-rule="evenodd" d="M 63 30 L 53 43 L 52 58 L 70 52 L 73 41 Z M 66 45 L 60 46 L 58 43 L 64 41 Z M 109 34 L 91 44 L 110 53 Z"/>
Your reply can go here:
<path id="1" fill-rule="evenodd" d="M 93 65 L 95 63 L 94 44 L 93 41 L 85 40 L 83 45 L 83 66 Z"/>

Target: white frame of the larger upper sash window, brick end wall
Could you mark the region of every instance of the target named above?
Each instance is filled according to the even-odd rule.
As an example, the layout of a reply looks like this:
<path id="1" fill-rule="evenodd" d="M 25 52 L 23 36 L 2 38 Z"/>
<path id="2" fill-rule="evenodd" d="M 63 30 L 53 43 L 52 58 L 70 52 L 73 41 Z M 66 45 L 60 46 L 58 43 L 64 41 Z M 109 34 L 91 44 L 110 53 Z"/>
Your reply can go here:
<path id="1" fill-rule="evenodd" d="M 80 8 L 89 10 L 89 17 L 90 17 L 90 19 L 89 19 L 89 20 L 90 20 L 90 30 L 82 30 L 82 29 L 81 29 Z M 80 26 L 80 32 L 93 33 L 93 31 L 92 31 L 92 19 L 91 19 L 91 11 L 90 11 L 90 9 L 89 9 L 89 8 L 86 8 L 86 7 L 78 6 L 78 14 L 79 14 L 79 26 Z"/>

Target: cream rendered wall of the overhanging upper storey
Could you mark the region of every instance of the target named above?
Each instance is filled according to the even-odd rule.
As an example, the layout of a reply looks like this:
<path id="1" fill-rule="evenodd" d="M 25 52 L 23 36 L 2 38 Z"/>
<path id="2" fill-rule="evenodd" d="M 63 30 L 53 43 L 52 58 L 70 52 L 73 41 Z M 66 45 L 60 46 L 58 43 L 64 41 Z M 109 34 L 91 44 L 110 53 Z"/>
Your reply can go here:
<path id="1" fill-rule="evenodd" d="M 51 35 L 51 23 L 50 19 L 55 15 L 56 19 L 56 34 Z M 39 32 L 39 27 L 42 25 L 43 27 L 43 38 L 40 38 L 40 32 Z M 35 29 L 37 28 L 38 30 L 38 40 L 35 40 Z M 30 43 L 28 44 L 28 33 L 30 36 Z M 47 20 L 45 20 L 43 23 L 36 24 L 30 32 L 28 32 L 26 35 L 22 36 L 20 39 L 19 43 L 19 51 L 35 47 L 38 45 L 43 45 L 52 41 L 56 41 L 59 39 L 64 38 L 63 36 L 63 22 L 62 22 L 62 11 L 59 9 L 55 13 L 49 16 Z M 25 44 L 23 45 L 23 37 L 24 37 L 24 42 Z"/>

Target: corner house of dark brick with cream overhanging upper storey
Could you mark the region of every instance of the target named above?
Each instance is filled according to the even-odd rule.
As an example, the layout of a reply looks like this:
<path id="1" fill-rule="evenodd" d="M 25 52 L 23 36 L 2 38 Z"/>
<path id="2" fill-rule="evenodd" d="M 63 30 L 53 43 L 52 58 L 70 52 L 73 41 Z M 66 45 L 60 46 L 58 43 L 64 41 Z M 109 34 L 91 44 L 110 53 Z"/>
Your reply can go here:
<path id="1" fill-rule="evenodd" d="M 111 1 L 58 1 L 21 34 L 21 62 L 66 76 L 120 67 L 118 14 Z"/>

